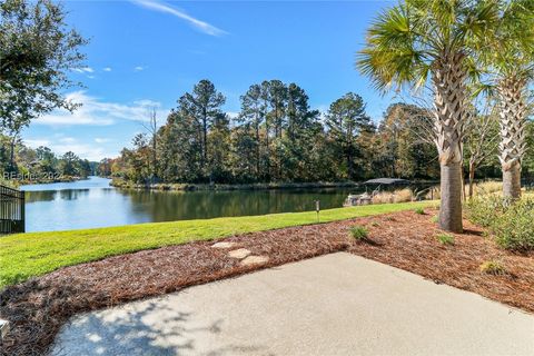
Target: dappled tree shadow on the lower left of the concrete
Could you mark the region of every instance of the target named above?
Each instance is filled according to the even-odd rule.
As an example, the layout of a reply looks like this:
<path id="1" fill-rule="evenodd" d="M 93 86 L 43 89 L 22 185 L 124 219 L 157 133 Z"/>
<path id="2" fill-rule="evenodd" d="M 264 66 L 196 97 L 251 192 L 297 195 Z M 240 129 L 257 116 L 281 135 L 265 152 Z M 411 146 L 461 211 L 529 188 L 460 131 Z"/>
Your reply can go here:
<path id="1" fill-rule="evenodd" d="M 155 312 L 165 317 L 155 323 Z M 147 320 L 150 317 L 151 320 Z M 72 320 L 66 325 L 63 333 L 58 335 L 51 355 L 225 356 L 261 350 L 265 355 L 269 355 L 264 347 L 250 345 L 229 344 L 209 350 L 195 348 L 197 337 L 202 337 L 201 334 L 220 334 L 222 326 L 222 318 L 198 326 L 194 323 L 192 313 L 177 312 L 176 308 L 161 304 L 146 303 L 136 306 L 135 309 L 125 309 L 115 317 L 99 313 L 83 315 Z"/>

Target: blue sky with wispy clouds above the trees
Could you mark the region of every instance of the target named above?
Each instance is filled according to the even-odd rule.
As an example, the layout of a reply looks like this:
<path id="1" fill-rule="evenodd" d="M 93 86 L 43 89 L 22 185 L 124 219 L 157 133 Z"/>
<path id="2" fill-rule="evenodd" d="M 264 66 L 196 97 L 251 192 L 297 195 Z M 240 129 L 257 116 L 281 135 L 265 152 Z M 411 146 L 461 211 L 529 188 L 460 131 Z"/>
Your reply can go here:
<path id="1" fill-rule="evenodd" d="M 200 79 L 239 111 L 239 96 L 265 79 L 296 82 L 313 108 L 326 110 L 348 91 L 359 93 L 378 120 L 382 97 L 355 70 L 365 30 L 390 1 L 67 1 L 68 21 L 90 39 L 83 70 L 68 90 L 83 106 L 52 112 L 22 136 L 58 154 L 116 157 L 142 132 L 149 107 L 165 122 L 176 100 Z"/>

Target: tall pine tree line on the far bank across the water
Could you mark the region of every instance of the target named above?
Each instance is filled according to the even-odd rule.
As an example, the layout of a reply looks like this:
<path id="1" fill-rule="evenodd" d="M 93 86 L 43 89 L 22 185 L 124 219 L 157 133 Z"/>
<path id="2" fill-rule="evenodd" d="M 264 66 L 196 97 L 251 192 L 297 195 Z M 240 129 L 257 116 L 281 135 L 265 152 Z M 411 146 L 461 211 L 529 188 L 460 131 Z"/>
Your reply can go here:
<path id="1" fill-rule="evenodd" d="M 147 132 L 138 134 L 120 157 L 102 160 L 99 172 L 135 184 L 439 178 L 428 109 L 393 103 L 376 123 L 354 92 L 326 112 L 310 109 L 308 101 L 298 85 L 266 80 L 249 87 L 240 111 L 230 117 L 222 110 L 225 96 L 200 80 L 177 100 L 161 127 L 152 111 Z M 497 118 L 474 112 L 469 127 L 465 177 L 497 177 Z"/>

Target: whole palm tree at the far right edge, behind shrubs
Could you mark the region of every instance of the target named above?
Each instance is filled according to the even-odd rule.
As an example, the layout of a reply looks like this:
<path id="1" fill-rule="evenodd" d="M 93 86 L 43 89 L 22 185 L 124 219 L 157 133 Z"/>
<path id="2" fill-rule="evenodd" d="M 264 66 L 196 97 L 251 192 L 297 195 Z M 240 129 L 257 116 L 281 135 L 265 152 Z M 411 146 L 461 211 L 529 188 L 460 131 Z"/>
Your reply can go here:
<path id="1" fill-rule="evenodd" d="M 534 2 L 505 3 L 495 43 L 486 59 L 495 72 L 498 98 L 503 194 L 521 198 L 521 164 L 526 152 L 528 82 L 534 77 Z"/>

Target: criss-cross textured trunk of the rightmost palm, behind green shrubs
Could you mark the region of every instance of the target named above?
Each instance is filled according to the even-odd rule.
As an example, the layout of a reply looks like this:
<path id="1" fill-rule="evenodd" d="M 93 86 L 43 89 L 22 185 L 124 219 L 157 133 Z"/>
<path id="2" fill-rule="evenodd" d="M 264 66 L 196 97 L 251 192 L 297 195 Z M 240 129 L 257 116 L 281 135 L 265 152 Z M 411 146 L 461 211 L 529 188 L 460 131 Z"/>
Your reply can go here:
<path id="1" fill-rule="evenodd" d="M 503 195 L 521 198 L 521 162 L 526 151 L 526 81 L 505 78 L 497 86 L 501 106 L 500 160 L 503 167 Z"/>

